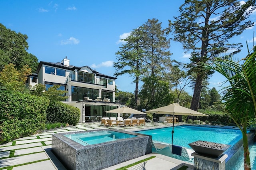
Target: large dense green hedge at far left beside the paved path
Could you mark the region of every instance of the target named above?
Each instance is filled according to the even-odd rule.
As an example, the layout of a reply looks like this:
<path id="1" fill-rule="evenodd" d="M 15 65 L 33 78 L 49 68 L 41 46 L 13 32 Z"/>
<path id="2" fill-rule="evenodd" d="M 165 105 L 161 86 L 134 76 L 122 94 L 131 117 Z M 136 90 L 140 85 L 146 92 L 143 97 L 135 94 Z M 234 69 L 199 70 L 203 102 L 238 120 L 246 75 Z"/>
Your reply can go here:
<path id="1" fill-rule="evenodd" d="M 48 99 L 6 90 L 0 90 L 0 96 L 1 142 L 11 142 L 44 129 Z"/>

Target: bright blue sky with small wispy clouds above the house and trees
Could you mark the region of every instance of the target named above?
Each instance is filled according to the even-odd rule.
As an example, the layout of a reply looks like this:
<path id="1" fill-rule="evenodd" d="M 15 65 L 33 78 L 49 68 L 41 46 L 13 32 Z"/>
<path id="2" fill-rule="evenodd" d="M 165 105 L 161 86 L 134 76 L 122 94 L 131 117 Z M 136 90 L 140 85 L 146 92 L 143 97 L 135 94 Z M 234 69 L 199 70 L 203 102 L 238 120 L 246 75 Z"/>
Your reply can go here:
<path id="1" fill-rule="evenodd" d="M 168 26 L 168 20 L 179 15 L 182 0 L 1 0 L 0 23 L 6 28 L 28 36 L 28 52 L 38 61 L 60 62 L 65 56 L 75 66 L 88 65 L 100 73 L 113 76 L 116 61 L 115 53 L 133 29 L 156 18 L 162 22 L 162 28 Z M 250 16 L 256 22 L 256 12 Z M 255 26 L 240 36 L 230 40 L 242 43 L 244 47 L 238 54 L 247 55 L 246 41 L 251 49 Z M 256 37 L 254 37 L 256 44 Z M 170 43 L 171 59 L 188 63 L 189 55 L 184 54 L 182 45 Z M 210 88 L 224 81 L 215 73 L 210 79 Z M 118 76 L 118 89 L 133 92 L 135 84 L 128 75 Z M 192 95 L 190 87 L 186 87 Z"/>

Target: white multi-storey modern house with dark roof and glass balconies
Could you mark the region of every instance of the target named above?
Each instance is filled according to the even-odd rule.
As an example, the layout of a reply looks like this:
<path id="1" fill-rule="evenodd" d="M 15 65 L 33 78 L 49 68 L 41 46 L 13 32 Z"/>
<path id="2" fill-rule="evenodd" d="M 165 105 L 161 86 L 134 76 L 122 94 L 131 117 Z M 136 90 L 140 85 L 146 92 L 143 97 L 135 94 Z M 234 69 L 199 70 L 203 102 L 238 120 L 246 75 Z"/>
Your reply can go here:
<path id="1" fill-rule="evenodd" d="M 60 89 L 68 92 L 68 99 L 64 103 L 80 109 L 79 122 L 84 123 L 102 117 L 120 116 L 105 113 L 123 106 L 122 103 L 114 102 L 115 80 L 116 77 L 104 75 L 88 66 L 70 65 L 66 57 L 57 63 L 40 61 L 36 74 L 30 75 L 28 83 L 31 86 L 41 83 L 46 86 L 46 90 L 53 85 L 61 85 Z"/>

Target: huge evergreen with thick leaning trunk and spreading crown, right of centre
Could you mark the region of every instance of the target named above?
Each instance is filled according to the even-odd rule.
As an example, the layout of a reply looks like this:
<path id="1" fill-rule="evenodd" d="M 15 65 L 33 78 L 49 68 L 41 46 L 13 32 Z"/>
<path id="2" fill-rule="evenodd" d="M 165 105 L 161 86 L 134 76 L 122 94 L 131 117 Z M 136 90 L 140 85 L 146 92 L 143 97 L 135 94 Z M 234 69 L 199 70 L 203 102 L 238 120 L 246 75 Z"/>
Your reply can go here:
<path id="1" fill-rule="evenodd" d="M 240 51 L 240 44 L 229 44 L 228 40 L 254 25 L 247 21 L 255 9 L 255 0 L 241 4 L 238 0 L 185 0 L 180 6 L 180 16 L 169 21 L 174 40 L 181 42 L 190 57 L 196 84 L 190 109 L 198 110 L 202 90 L 202 80 L 207 73 L 198 73 L 199 62 L 207 62 L 214 55 L 228 49 Z"/>

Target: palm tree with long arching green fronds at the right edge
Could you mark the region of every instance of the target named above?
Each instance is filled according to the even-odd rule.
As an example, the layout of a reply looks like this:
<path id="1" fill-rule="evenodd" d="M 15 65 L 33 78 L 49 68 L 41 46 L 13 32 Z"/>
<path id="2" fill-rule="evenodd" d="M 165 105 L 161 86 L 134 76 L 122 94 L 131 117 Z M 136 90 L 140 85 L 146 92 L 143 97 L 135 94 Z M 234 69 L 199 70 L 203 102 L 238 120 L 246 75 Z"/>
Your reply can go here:
<path id="1" fill-rule="evenodd" d="M 256 120 L 256 48 L 254 52 L 236 61 L 233 55 L 217 57 L 211 63 L 201 63 L 202 73 L 213 69 L 226 77 L 230 85 L 223 87 L 226 111 L 240 128 L 243 136 L 244 169 L 250 170 L 250 157 L 246 128 Z M 240 64 L 242 63 L 242 64 Z"/>

